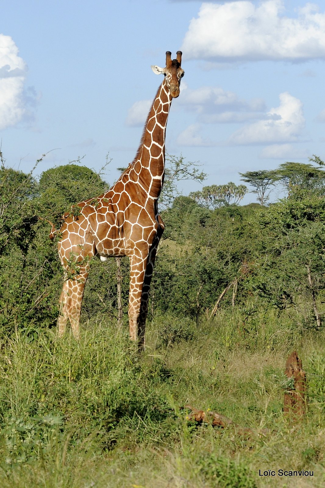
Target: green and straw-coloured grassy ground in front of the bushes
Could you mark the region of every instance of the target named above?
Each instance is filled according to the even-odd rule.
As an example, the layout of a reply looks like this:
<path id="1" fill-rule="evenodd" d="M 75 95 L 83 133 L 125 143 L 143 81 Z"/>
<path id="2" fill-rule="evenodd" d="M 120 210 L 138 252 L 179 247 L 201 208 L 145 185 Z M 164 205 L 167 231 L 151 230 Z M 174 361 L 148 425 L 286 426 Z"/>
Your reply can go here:
<path id="1" fill-rule="evenodd" d="M 141 356 L 127 325 L 104 319 L 82 325 L 80 345 L 55 329 L 0 337 L 3 488 L 325 486 L 325 332 L 288 312 L 221 311 L 198 327 L 156 317 Z M 309 395 L 296 425 L 283 414 L 292 350 Z M 187 404 L 270 433 L 191 422 Z"/>

